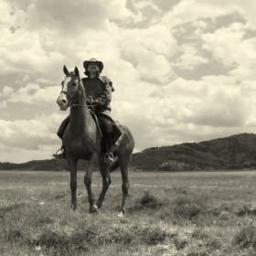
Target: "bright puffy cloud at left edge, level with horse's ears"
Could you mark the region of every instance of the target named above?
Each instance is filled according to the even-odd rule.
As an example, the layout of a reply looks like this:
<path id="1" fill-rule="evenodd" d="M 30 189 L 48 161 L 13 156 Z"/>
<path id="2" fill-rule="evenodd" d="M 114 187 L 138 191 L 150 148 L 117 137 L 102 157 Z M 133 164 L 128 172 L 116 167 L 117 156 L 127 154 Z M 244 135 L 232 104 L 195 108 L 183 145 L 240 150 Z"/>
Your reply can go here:
<path id="1" fill-rule="evenodd" d="M 0 75 L 24 72 L 32 79 L 48 73 L 48 80 L 56 79 L 56 73 L 52 70 L 61 67 L 65 57 L 59 52 L 47 53 L 41 48 L 37 32 L 20 28 L 15 33 L 5 31 L 1 38 Z"/>

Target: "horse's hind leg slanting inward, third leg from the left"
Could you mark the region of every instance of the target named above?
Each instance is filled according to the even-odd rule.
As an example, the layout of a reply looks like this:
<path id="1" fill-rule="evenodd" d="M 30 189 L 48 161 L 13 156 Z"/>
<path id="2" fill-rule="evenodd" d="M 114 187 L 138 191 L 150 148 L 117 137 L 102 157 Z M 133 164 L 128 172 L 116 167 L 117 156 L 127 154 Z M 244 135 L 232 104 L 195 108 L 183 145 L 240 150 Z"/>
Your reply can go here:
<path id="1" fill-rule="evenodd" d="M 110 165 L 104 163 L 104 157 L 100 157 L 99 159 L 99 165 L 100 165 L 100 171 L 102 176 L 102 189 L 101 189 L 101 195 L 98 198 L 98 201 L 96 203 L 96 206 L 98 208 L 101 208 L 102 202 L 104 200 L 104 197 L 108 191 L 108 188 L 110 187 L 112 180 L 110 176 Z"/>

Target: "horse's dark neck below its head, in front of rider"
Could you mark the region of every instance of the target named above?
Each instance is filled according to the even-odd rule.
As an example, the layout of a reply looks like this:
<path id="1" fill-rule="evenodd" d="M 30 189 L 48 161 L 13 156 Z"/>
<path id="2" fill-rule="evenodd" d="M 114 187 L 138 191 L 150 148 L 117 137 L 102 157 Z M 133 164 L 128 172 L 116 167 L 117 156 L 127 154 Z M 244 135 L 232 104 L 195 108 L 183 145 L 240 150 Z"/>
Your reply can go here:
<path id="1" fill-rule="evenodd" d="M 71 133 L 76 135 L 83 134 L 84 132 L 89 132 L 91 127 L 91 113 L 86 105 L 86 96 L 84 87 L 81 84 L 80 86 L 80 96 L 78 97 L 78 104 L 79 106 L 74 106 L 70 109 L 70 128 Z"/>

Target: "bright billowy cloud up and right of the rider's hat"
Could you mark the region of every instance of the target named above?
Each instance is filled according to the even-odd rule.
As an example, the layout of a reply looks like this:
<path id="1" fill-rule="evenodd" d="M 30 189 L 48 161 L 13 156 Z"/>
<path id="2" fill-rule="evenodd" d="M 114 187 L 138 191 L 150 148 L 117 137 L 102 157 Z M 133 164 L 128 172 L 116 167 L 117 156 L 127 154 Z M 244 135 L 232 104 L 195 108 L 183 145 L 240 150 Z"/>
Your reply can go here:
<path id="1" fill-rule="evenodd" d="M 176 54 L 177 46 L 167 27 L 128 29 L 119 40 L 123 48 L 121 58 L 133 64 L 140 79 L 160 83 L 173 79 L 174 71 L 167 59 Z"/>

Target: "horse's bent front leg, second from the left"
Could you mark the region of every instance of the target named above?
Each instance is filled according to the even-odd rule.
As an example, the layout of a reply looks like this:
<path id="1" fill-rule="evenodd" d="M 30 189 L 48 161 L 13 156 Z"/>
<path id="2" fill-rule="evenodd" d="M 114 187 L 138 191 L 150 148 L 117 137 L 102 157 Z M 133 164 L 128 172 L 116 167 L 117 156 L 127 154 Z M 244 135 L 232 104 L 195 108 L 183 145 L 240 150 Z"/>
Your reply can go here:
<path id="1" fill-rule="evenodd" d="M 88 201 L 90 204 L 89 213 L 95 213 L 98 211 L 98 208 L 94 205 L 94 196 L 91 191 L 91 176 L 93 173 L 93 160 L 95 159 L 95 155 L 91 156 L 91 159 L 88 162 L 86 174 L 84 176 L 84 185 L 86 186 L 87 193 L 88 193 Z"/>

